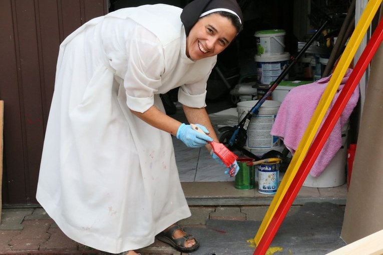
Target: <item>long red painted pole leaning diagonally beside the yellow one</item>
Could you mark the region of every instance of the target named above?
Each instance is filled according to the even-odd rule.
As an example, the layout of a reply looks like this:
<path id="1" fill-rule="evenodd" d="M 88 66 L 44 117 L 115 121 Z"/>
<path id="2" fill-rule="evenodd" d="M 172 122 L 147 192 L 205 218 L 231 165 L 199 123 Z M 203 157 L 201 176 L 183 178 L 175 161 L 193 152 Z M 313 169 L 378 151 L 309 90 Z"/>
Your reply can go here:
<path id="1" fill-rule="evenodd" d="M 383 19 L 380 20 L 378 26 L 371 36 L 371 39 L 367 43 L 346 84 L 340 92 L 339 97 L 335 101 L 334 106 L 331 108 L 330 113 L 328 114 L 326 120 L 318 132 L 318 135 L 308 150 L 307 155 L 305 156 L 301 166 L 297 171 L 297 174 L 288 187 L 286 194 L 282 198 L 281 203 L 275 211 L 275 214 L 272 217 L 270 224 L 266 228 L 265 233 L 261 237 L 253 255 L 264 255 L 266 253 L 272 239 L 278 231 L 279 226 L 281 225 L 284 217 L 290 209 L 292 202 L 294 201 L 304 180 L 306 179 L 312 165 L 318 157 L 324 143 L 334 128 L 336 121 L 339 119 L 341 113 L 343 112 L 348 100 L 350 99 L 353 91 L 360 81 L 360 78 L 363 76 L 365 69 L 367 68 L 377 48 L 380 46 L 382 40 Z"/>

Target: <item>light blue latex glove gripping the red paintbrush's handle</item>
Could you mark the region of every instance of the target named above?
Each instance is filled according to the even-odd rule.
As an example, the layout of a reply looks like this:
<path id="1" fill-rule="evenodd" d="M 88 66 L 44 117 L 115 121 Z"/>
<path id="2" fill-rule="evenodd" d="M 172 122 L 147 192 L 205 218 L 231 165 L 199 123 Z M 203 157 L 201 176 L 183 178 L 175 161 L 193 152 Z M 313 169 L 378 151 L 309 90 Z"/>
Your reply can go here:
<path id="1" fill-rule="evenodd" d="M 209 133 L 209 131 L 204 126 L 199 124 L 196 124 L 196 126 L 198 126 L 206 134 Z M 213 141 L 213 138 L 210 136 L 195 131 L 190 125 L 185 125 L 185 123 L 182 123 L 178 128 L 176 137 L 190 148 L 199 148 L 205 146 L 207 142 Z"/>

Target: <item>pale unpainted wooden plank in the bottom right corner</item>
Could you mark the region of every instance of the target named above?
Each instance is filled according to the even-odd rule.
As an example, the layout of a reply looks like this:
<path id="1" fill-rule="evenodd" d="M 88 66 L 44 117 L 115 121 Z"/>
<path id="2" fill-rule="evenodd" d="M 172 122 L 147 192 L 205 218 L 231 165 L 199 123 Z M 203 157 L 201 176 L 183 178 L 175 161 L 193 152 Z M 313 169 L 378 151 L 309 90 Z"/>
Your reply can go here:
<path id="1" fill-rule="evenodd" d="M 383 230 L 367 235 L 326 255 L 380 255 L 383 254 Z"/>

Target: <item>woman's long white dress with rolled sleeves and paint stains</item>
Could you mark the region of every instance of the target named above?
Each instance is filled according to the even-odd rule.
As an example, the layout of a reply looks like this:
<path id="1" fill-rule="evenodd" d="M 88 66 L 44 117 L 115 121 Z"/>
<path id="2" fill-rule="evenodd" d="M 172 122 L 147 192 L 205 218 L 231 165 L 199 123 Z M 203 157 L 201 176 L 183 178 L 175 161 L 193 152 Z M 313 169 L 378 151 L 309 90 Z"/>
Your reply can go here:
<path id="1" fill-rule="evenodd" d="M 142 6 L 96 18 L 60 46 L 37 199 L 66 235 L 119 253 L 189 217 L 171 135 L 133 115 L 159 94 L 205 107 L 216 58 L 185 55 L 181 9 Z"/>

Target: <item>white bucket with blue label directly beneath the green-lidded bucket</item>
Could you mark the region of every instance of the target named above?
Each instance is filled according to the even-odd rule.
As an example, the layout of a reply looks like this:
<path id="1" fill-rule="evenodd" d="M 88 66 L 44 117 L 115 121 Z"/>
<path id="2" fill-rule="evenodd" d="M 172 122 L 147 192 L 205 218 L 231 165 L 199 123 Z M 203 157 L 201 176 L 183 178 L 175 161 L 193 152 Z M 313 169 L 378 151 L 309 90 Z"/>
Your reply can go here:
<path id="1" fill-rule="evenodd" d="M 255 55 L 254 59 L 258 82 L 261 84 L 270 84 L 278 78 L 285 68 L 287 68 L 290 53 L 285 52 L 282 55 L 271 57 Z M 287 79 L 288 75 L 283 78 L 283 80 Z"/>

